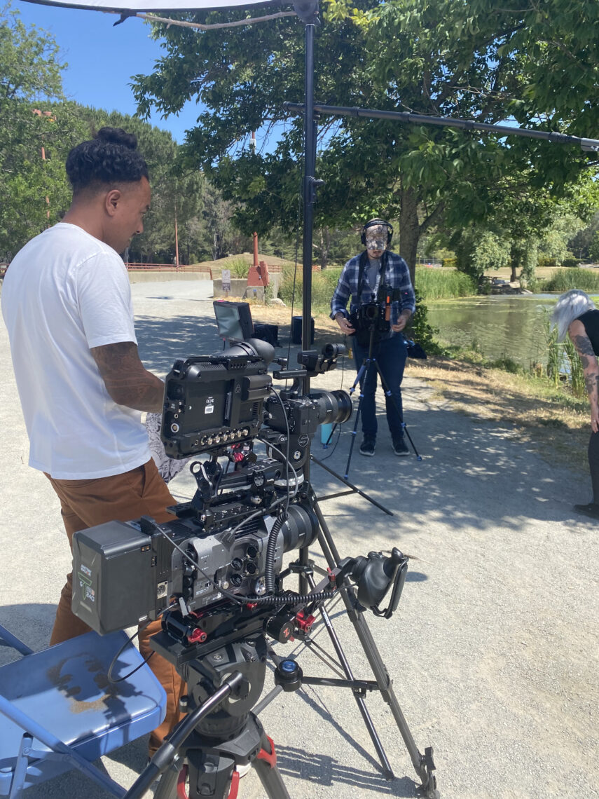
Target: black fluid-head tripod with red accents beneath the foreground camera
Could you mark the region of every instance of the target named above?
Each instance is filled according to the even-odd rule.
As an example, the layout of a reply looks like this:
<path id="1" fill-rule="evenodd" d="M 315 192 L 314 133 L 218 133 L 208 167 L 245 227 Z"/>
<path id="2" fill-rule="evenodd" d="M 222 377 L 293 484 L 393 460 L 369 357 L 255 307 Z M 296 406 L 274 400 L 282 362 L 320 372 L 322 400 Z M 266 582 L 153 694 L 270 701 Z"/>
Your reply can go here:
<path id="1" fill-rule="evenodd" d="M 125 799 L 139 799 L 161 775 L 155 799 L 234 799 L 238 767 L 247 763 L 256 770 L 269 799 L 290 799 L 276 767 L 275 745 L 252 713 L 264 686 L 264 635 L 248 634 L 227 646 L 219 640 L 212 649 L 195 653 L 197 657 L 193 657 L 195 647 L 177 652 L 164 633 L 152 645 L 177 663 L 188 683 L 188 716 L 158 749 Z M 191 659 L 185 662 L 184 658 Z M 219 683 L 214 690 L 207 687 Z"/>

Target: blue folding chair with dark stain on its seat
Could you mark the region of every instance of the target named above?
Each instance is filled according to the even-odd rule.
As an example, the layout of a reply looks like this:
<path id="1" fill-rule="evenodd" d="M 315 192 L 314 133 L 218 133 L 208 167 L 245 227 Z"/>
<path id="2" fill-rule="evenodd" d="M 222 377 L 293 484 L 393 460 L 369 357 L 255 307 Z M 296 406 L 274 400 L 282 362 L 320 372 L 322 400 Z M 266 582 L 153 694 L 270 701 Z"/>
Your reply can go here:
<path id="1" fill-rule="evenodd" d="M 149 733 L 165 718 L 166 694 L 124 632 L 86 633 L 33 652 L 0 625 L 23 657 L 0 667 L 0 797 L 77 768 L 116 797 L 126 789 L 93 761 Z M 129 675 L 137 666 L 135 674 Z"/>

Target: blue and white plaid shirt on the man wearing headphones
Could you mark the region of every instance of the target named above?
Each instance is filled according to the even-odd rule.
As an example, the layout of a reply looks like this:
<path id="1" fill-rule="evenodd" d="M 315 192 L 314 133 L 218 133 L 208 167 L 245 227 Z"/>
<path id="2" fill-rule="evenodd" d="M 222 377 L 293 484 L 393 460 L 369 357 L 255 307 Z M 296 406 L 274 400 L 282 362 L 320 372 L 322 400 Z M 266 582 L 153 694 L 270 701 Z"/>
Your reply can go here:
<path id="1" fill-rule="evenodd" d="M 339 276 L 339 283 L 331 300 L 331 319 L 335 319 L 335 315 L 338 313 L 343 313 L 346 318 L 349 316 L 347 313 L 347 300 L 349 300 L 350 296 L 350 312 L 356 311 L 359 307 L 361 300 L 358 277 L 361 254 L 350 258 L 343 267 L 343 271 Z M 366 280 L 366 275 L 363 276 L 362 282 L 364 280 Z M 391 285 L 391 288 L 402 289 L 402 299 L 391 303 L 391 324 L 397 324 L 399 314 L 407 308 L 412 313 L 415 312 L 416 298 L 410 280 L 410 270 L 407 268 L 406 261 L 401 256 L 396 255 L 395 252 L 387 252 L 387 270 L 381 277 L 381 283 Z"/>

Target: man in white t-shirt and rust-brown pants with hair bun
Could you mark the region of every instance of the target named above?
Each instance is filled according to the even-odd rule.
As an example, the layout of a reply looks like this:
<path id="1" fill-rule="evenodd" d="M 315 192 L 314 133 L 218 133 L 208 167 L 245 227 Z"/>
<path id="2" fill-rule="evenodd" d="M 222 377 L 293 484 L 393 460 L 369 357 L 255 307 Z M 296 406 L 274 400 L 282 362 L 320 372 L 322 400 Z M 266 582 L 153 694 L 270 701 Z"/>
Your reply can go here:
<path id="1" fill-rule="evenodd" d="M 63 221 L 14 257 L 2 315 L 30 437 L 30 466 L 50 479 L 73 533 L 119 519 L 173 519 L 175 504 L 150 455 L 141 411 L 161 411 L 164 383 L 141 363 L 129 276 L 119 256 L 144 229 L 150 185 L 132 134 L 102 128 L 66 161 L 73 202 Z M 72 575 L 58 605 L 52 644 L 89 630 L 71 611 Z M 140 634 L 160 629 L 153 622 Z M 168 697 L 150 750 L 179 719 L 180 678 L 149 661 Z"/>

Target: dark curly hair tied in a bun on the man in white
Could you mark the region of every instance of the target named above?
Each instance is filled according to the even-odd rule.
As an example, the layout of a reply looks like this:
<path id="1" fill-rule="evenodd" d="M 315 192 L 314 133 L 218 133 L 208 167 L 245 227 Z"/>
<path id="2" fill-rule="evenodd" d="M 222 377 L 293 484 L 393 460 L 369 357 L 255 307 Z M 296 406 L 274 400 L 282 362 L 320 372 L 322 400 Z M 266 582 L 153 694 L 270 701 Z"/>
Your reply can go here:
<path id="1" fill-rule="evenodd" d="M 122 128 L 101 128 L 91 141 L 73 147 L 66 159 L 66 174 L 73 194 L 149 178 L 137 137 Z"/>

